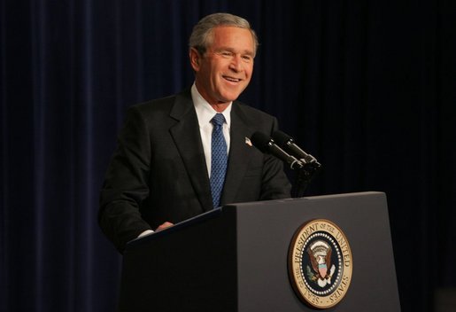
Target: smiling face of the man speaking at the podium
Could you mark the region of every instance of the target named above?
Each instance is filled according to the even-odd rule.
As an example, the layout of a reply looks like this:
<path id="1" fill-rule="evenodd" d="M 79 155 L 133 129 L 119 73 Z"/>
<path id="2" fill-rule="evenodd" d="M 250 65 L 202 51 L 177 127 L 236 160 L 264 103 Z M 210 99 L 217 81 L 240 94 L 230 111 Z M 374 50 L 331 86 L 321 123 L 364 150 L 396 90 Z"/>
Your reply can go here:
<path id="1" fill-rule="evenodd" d="M 205 55 L 191 49 L 197 90 L 209 104 L 228 104 L 247 88 L 253 71 L 254 44 L 248 29 L 216 27 Z"/>

